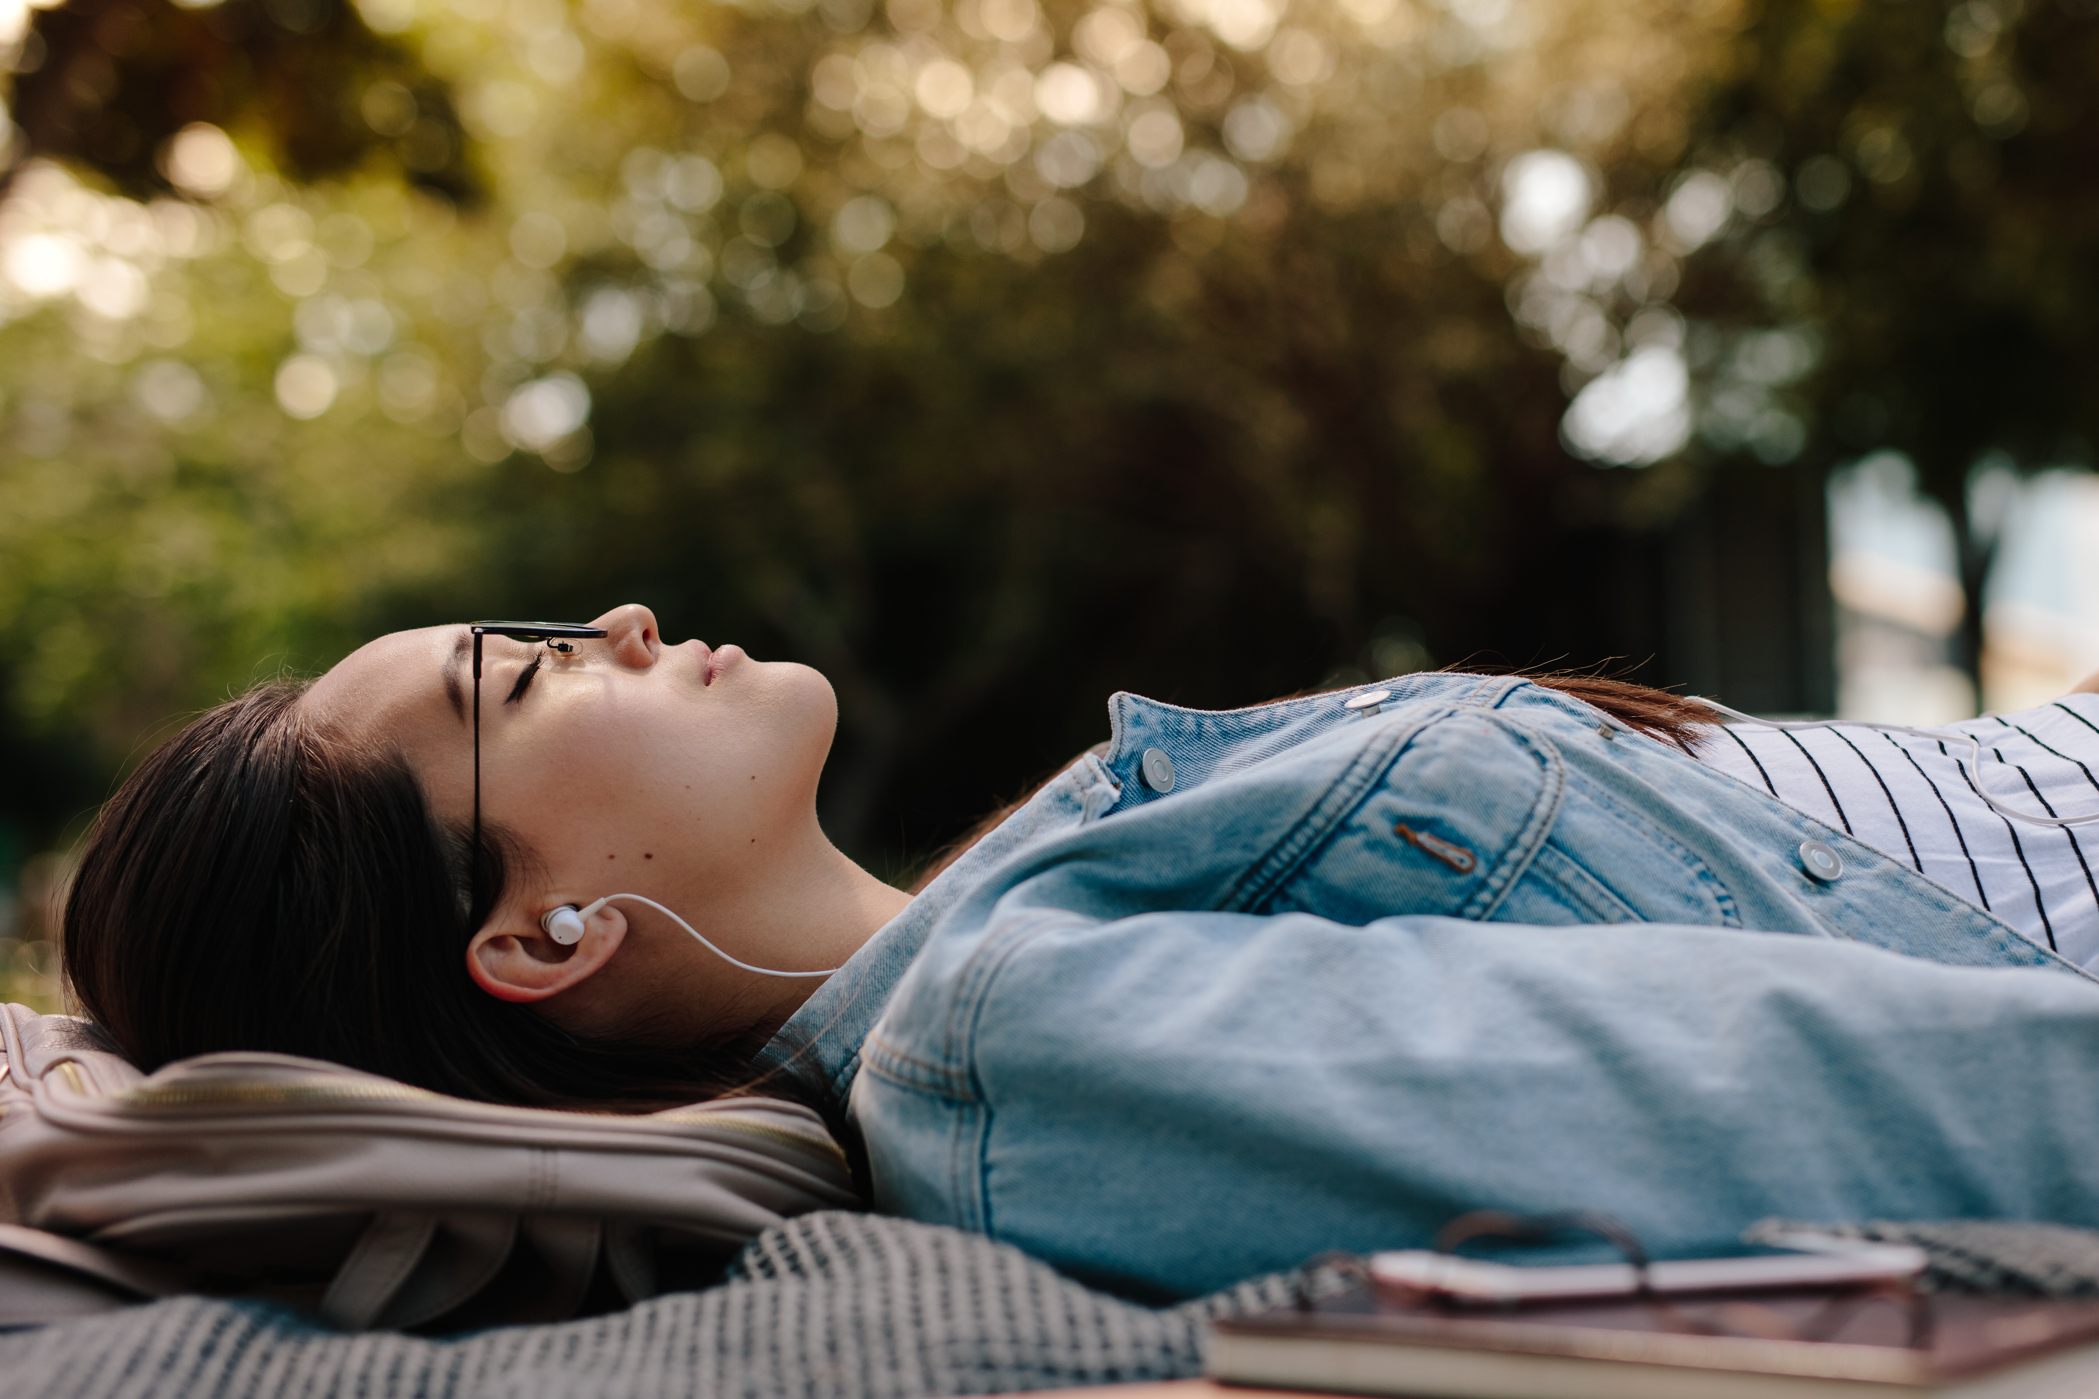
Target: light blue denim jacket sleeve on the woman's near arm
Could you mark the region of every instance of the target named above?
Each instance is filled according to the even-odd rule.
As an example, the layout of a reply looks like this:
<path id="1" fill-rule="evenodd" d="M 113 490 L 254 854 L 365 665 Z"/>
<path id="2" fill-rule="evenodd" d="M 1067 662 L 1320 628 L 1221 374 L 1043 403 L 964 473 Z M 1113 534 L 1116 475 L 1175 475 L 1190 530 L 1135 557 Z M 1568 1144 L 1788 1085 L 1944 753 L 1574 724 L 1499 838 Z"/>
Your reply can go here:
<path id="1" fill-rule="evenodd" d="M 924 988 L 921 988 L 924 990 Z M 894 1005 L 877 1204 L 1192 1296 L 1473 1208 L 2099 1225 L 2099 988 L 1683 925 L 1031 910 Z"/>

